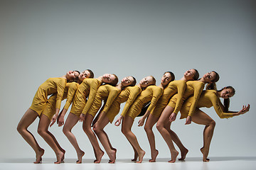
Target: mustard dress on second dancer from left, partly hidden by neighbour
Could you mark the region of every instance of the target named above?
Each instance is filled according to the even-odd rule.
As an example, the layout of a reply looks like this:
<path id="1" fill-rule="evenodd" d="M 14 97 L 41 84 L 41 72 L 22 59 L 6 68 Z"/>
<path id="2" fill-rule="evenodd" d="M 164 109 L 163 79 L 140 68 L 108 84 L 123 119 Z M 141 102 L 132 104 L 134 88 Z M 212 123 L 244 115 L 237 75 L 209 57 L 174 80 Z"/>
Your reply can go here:
<path id="1" fill-rule="evenodd" d="M 73 101 L 73 96 L 75 94 L 75 91 L 78 89 L 78 85 L 79 85 L 78 83 L 72 82 L 72 83 L 67 83 L 65 86 L 62 101 L 67 98 L 64 106 L 66 110 L 68 110 L 70 104 Z M 50 96 L 50 98 L 48 99 L 47 106 L 46 108 L 43 109 L 43 112 L 42 112 L 42 114 L 46 115 L 49 118 L 49 120 L 51 120 L 53 118 L 53 115 L 55 114 L 56 98 L 57 98 L 57 94 L 53 94 L 52 96 Z"/>

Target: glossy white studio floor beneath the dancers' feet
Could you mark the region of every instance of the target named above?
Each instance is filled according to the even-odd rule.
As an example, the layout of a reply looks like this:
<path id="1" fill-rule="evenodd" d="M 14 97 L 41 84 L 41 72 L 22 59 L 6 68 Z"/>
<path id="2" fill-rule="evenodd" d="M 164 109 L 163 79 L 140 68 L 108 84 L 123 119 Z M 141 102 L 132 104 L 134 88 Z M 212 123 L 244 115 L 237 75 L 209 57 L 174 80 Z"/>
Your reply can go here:
<path id="1" fill-rule="evenodd" d="M 0 170 L 18 169 L 18 170 L 218 170 L 218 169 L 232 169 L 232 170 L 250 170 L 256 169 L 256 157 L 210 157 L 210 162 L 201 162 L 199 157 L 187 157 L 186 161 L 177 161 L 174 164 L 168 163 L 169 159 L 157 159 L 157 162 L 149 163 L 148 159 L 144 159 L 142 164 L 136 164 L 129 159 L 117 159 L 115 164 L 108 164 L 107 159 L 102 159 L 100 164 L 93 164 L 92 159 L 83 159 L 82 164 L 75 164 L 75 159 L 65 159 L 64 164 L 53 164 L 55 159 L 43 159 L 42 164 L 33 164 L 33 159 L 1 159 Z"/>

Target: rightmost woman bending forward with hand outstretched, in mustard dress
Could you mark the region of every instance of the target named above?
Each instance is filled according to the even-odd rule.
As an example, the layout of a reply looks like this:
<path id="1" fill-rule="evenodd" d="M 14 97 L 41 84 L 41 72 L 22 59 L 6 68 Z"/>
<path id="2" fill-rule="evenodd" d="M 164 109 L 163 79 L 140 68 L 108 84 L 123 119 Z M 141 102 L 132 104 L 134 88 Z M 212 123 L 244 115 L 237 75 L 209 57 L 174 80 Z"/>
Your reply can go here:
<path id="1" fill-rule="evenodd" d="M 201 111 L 199 108 L 210 108 L 213 106 L 215 112 L 218 114 L 220 118 L 232 118 L 233 116 L 241 115 L 249 111 L 250 105 L 242 106 L 242 110 L 238 112 L 228 111 L 229 107 L 229 98 L 234 96 L 235 89 L 232 86 L 224 87 L 219 91 L 215 90 L 206 90 L 203 91 L 198 103 L 196 105 L 196 110 L 193 113 L 192 121 L 199 125 L 206 125 L 203 130 L 203 147 L 201 148 L 201 152 L 203 154 L 203 162 L 209 162 L 208 153 L 210 149 L 210 141 L 213 137 L 213 131 L 215 128 L 215 121 L 210 118 L 209 115 Z M 224 99 L 224 106 L 220 102 L 220 98 Z M 188 98 L 181 108 L 181 119 L 186 118 L 191 109 L 193 103 L 193 96 Z"/>

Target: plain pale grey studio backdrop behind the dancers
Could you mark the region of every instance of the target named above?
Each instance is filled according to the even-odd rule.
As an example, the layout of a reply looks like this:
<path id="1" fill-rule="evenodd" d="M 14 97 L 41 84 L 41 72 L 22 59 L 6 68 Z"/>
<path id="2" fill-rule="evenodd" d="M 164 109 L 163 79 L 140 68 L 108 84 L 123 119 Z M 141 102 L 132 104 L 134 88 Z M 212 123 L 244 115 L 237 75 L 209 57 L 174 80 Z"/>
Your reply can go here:
<path id="1" fill-rule="evenodd" d="M 16 125 L 31 106 L 38 86 L 49 77 L 92 69 L 95 77 L 114 73 L 119 79 L 132 75 L 139 81 L 153 75 L 159 84 L 165 71 L 180 79 L 191 68 L 198 69 L 201 76 L 218 72 L 218 89 L 235 87 L 231 111 L 251 104 L 249 113 L 230 119 L 218 118 L 213 108 L 203 109 L 216 121 L 210 156 L 255 157 L 254 2 L 0 1 L 0 158 L 34 157 Z M 145 157 L 150 157 L 146 133 L 137 127 L 138 120 L 132 130 Z M 201 157 L 204 127 L 184 123 L 177 119 L 172 129 L 189 149 L 188 157 Z M 84 159 L 92 159 L 92 147 L 81 125 L 73 132 L 85 151 Z M 53 150 L 37 134 L 37 126 L 38 119 L 29 130 L 46 149 L 44 157 L 54 158 Z M 132 158 L 132 147 L 120 127 L 112 124 L 105 130 L 118 150 L 117 158 Z M 66 149 L 66 157 L 75 159 L 75 149 L 62 128 L 54 125 L 50 132 Z M 156 128 L 154 132 L 159 157 L 170 157 Z"/>

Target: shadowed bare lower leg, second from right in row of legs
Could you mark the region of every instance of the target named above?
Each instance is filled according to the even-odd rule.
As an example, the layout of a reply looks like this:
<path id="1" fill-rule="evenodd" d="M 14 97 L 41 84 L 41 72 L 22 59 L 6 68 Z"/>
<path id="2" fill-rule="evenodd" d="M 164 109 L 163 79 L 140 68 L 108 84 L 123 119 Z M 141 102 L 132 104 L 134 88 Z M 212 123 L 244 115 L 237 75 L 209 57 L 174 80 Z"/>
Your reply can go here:
<path id="1" fill-rule="evenodd" d="M 179 161 L 185 160 L 186 154 L 188 154 L 188 149 L 186 149 L 186 147 L 184 147 L 181 140 L 178 138 L 178 135 L 173 130 L 171 130 L 171 122 L 168 122 L 165 125 L 165 128 L 166 128 L 166 130 L 168 130 L 169 134 L 171 135 L 171 140 L 173 140 L 174 143 L 176 143 L 178 148 L 181 150 L 181 158 L 178 160 Z"/>

